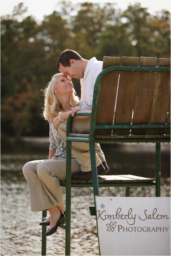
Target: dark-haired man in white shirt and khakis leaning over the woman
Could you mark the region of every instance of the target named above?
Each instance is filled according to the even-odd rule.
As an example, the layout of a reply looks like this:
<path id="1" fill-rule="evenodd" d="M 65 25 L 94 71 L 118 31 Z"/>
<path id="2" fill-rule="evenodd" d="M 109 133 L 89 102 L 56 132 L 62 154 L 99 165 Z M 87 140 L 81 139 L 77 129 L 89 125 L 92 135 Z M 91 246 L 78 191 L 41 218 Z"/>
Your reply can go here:
<path id="1" fill-rule="evenodd" d="M 69 78 L 77 78 L 80 79 L 81 84 L 81 101 L 86 102 L 88 105 L 92 106 L 93 102 L 93 91 L 94 91 L 94 85 L 96 81 L 96 77 L 98 74 L 102 71 L 102 61 L 97 61 L 95 57 L 91 58 L 90 60 L 83 59 L 76 51 L 74 50 L 65 50 L 63 51 L 58 59 L 57 67 L 61 73 L 68 76 Z M 87 110 L 91 110 L 91 107 Z M 57 118 L 57 117 L 56 117 Z M 55 119 L 54 119 L 55 124 Z M 89 122 L 87 120 L 81 121 L 81 123 L 78 120 L 74 120 L 73 122 L 73 129 L 75 133 L 84 133 L 84 131 L 89 130 Z M 58 133 L 63 140 L 64 143 L 66 143 L 66 122 L 62 122 L 58 126 Z M 84 150 L 89 151 L 89 145 L 87 143 L 84 143 L 84 146 L 82 146 L 82 143 L 77 143 L 77 153 L 75 154 L 75 158 L 81 159 L 82 154 L 82 147 L 84 147 Z M 105 156 L 103 154 L 103 151 L 100 148 L 100 145 L 98 143 L 95 144 L 95 150 L 97 155 L 99 156 L 100 160 L 102 161 L 102 164 L 100 166 L 97 166 L 97 173 L 105 174 L 109 171 L 109 167 L 107 166 Z M 74 154 L 74 152 L 72 152 Z M 88 166 L 90 165 L 89 159 L 82 159 L 84 162 L 82 165 Z M 90 168 L 90 167 L 89 167 Z M 73 179 L 90 179 L 91 178 L 91 171 L 86 172 L 80 172 L 75 173 L 72 176 Z"/>

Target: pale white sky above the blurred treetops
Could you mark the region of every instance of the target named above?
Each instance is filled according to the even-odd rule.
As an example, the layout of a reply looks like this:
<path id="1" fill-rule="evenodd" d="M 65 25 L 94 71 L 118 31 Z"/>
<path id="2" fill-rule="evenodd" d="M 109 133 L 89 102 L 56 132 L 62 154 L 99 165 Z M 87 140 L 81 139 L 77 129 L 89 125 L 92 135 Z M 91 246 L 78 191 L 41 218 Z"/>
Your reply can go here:
<path id="1" fill-rule="evenodd" d="M 63 0 L 65 1 L 65 0 Z M 74 1 L 74 2 L 73 2 Z M 27 16 L 32 15 L 38 22 L 42 21 L 44 15 L 52 14 L 55 9 L 57 9 L 58 0 L 0 0 L 0 14 L 6 15 L 11 14 L 14 6 L 19 3 L 24 3 L 25 7 L 28 7 L 26 12 Z M 71 0 L 73 3 L 105 3 L 111 2 L 116 3 L 116 9 L 126 10 L 127 6 L 135 4 L 136 2 L 140 3 L 142 7 L 148 8 L 148 12 L 154 14 L 155 11 L 161 11 L 166 9 L 170 11 L 171 1 L 170 0 Z"/>

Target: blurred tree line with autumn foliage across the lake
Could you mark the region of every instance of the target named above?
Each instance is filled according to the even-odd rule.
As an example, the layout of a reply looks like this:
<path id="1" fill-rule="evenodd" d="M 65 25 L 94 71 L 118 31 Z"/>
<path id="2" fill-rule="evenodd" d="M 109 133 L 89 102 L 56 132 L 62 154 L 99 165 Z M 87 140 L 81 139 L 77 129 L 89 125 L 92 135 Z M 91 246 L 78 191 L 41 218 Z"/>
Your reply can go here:
<path id="1" fill-rule="evenodd" d="M 170 58 L 170 12 L 151 15 L 138 2 L 125 11 L 115 3 L 58 1 L 41 23 L 26 16 L 23 3 L 1 17 L 1 136 L 47 136 L 42 89 L 58 72 L 64 49 L 83 58 L 149 56 Z M 80 82 L 73 79 L 80 96 Z"/>

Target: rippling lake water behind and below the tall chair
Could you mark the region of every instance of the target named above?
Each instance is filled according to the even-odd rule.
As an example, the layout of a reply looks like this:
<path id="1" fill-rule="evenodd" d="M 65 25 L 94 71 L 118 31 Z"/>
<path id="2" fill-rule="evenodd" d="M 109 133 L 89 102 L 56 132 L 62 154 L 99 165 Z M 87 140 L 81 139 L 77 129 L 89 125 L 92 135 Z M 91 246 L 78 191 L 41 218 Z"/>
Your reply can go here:
<path id="1" fill-rule="evenodd" d="M 31 142 L 31 140 L 28 140 Z M 48 157 L 48 143 L 41 147 L 28 141 L 21 146 L 1 148 L 1 255 L 41 255 L 41 212 L 31 212 L 25 162 Z M 109 145 L 109 144 L 108 144 Z M 102 145 L 103 146 L 103 145 Z M 155 144 L 103 146 L 109 174 L 155 176 Z M 161 144 L 161 196 L 170 196 L 170 145 Z M 63 188 L 65 200 L 65 188 Z M 102 196 L 125 196 L 125 189 L 101 188 Z M 153 187 L 135 187 L 131 196 L 155 196 Z M 71 255 L 99 255 L 92 188 L 72 188 Z M 65 255 L 65 230 L 47 237 L 46 255 Z"/>

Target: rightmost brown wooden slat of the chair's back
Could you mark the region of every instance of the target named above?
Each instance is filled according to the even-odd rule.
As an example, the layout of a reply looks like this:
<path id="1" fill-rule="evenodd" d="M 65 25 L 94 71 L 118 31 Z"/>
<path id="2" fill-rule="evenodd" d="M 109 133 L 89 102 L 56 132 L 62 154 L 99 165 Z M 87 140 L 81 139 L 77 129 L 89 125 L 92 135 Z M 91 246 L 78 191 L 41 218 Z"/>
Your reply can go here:
<path id="1" fill-rule="evenodd" d="M 159 66 L 170 66 L 170 59 L 159 59 Z M 166 123 L 170 99 L 170 72 L 158 73 L 154 90 L 150 123 Z M 164 134 L 164 129 L 150 130 L 149 134 Z"/>

